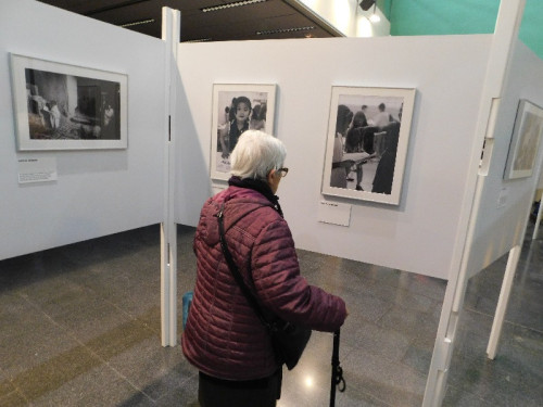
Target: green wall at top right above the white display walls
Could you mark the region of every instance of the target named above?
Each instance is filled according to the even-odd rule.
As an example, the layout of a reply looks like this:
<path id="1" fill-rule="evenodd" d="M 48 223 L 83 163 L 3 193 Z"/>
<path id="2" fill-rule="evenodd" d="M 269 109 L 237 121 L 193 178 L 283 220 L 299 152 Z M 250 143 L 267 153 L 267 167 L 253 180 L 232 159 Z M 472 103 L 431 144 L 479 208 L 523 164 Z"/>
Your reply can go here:
<path id="1" fill-rule="evenodd" d="M 377 4 L 393 36 L 491 34 L 500 0 L 379 0 Z M 526 0 L 519 38 L 543 59 L 543 0 Z"/>

